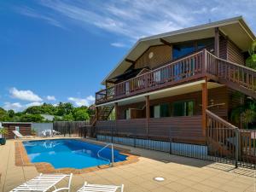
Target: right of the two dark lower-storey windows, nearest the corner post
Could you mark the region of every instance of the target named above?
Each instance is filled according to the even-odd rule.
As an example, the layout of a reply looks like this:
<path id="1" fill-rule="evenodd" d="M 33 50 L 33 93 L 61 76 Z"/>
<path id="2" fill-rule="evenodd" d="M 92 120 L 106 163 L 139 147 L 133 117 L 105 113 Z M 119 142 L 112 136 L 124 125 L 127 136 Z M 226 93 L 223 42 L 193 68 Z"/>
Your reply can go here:
<path id="1" fill-rule="evenodd" d="M 194 115 L 195 102 L 173 102 L 173 116 L 192 116 Z"/>

